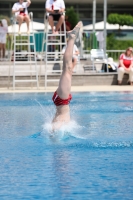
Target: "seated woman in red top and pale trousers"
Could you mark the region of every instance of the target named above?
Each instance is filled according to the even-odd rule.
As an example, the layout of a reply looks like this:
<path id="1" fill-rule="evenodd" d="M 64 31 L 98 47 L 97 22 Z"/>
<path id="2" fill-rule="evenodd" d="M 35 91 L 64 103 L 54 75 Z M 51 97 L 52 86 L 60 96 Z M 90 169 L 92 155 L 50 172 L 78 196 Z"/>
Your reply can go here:
<path id="1" fill-rule="evenodd" d="M 133 48 L 128 47 L 125 53 L 120 55 L 118 66 L 118 85 L 121 85 L 124 73 L 129 74 L 129 83 L 133 85 Z"/>

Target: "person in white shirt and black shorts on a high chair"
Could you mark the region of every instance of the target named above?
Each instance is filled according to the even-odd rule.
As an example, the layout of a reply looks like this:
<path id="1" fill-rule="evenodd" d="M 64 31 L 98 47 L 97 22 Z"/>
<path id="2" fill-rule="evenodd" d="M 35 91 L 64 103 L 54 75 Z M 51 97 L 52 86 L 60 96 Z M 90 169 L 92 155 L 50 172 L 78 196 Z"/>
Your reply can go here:
<path id="1" fill-rule="evenodd" d="M 58 30 L 63 24 L 65 17 L 63 12 L 65 11 L 65 4 L 63 0 L 47 0 L 46 1 L 46 12 L 49 24 L 53 34 L 58 34 Z M 54 21 L 58 21 L 54 29 Z"/>

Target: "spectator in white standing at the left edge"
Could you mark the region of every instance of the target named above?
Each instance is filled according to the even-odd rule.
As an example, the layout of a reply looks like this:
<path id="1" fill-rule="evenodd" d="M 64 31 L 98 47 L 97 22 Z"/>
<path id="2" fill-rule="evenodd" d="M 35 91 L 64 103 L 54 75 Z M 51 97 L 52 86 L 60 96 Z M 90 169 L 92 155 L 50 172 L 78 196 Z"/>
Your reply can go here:
<path id="1" fill-rule="evenodd" d="M 8 32 L 8 25 L 6 19 L 0 21 L 0 59 L 5 58 L 6 51 L 6 34 Z"/>

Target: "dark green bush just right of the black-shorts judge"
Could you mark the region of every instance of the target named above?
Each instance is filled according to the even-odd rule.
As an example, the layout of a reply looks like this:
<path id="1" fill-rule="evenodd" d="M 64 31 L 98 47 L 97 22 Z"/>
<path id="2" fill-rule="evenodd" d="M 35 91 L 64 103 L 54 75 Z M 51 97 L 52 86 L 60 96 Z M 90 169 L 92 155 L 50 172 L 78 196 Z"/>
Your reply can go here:
<path id="1" fill-rule="evenodd" d="M 70 8 L 66 9 L 66 14 L 68 17 L 68 21 L 72 25 L 72 28 L 78 23 L 79 21 L 79 15 L 75 12 L 74 8 L 71 6 Z"/>

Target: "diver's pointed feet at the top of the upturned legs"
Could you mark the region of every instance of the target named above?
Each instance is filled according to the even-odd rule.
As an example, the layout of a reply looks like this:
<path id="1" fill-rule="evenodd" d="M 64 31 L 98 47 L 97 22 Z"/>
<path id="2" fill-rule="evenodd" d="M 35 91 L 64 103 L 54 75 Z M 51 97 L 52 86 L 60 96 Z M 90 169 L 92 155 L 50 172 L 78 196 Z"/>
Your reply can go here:
<path id="1" fill-rule="evenodd" d="M 67 35 L 69 39 L 76 39 L 78 34 L 79 34 L 79 30 L 82 27 L 82 22 L 78 22 L 77 25 L 74 27 L 74 29 L 72 31 L 68 31 Z"/>

